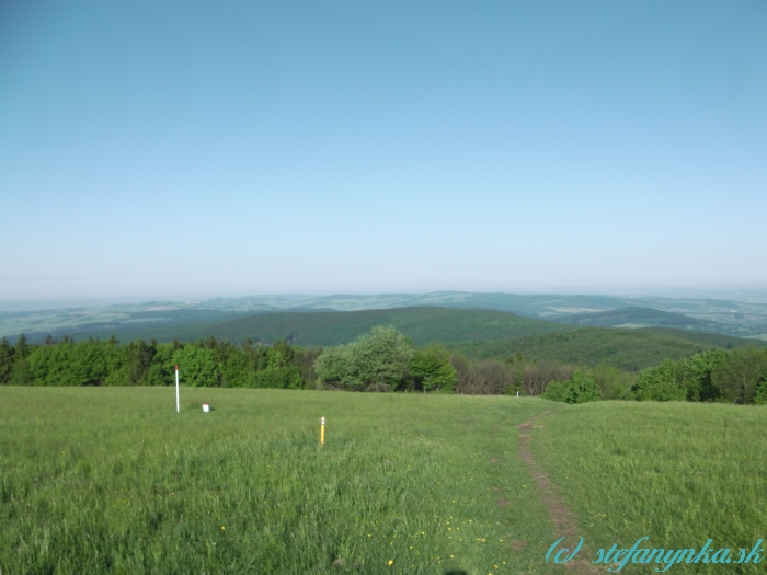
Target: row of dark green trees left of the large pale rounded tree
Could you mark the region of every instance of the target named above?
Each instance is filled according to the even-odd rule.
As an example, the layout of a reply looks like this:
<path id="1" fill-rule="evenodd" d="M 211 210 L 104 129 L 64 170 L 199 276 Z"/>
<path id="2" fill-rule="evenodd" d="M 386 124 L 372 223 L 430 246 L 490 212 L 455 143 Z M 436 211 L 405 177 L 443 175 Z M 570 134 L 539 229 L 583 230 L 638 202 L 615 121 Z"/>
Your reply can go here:
<path id="1" fill-rule="evenodd" d="M 0 382 L 16 386 L 169 386 L 174 366 L 183 383 L 194 387 L 294 388 L 313 381 L 311 364 L 319 352 L 287 342 L 271 346 L 250 341 L 240 346 L 215 337 L 196 343 L 142 340 L 121 345 L 107 341 L 30 345 L 22 335 L 14 346 L 0 342 Z"/>

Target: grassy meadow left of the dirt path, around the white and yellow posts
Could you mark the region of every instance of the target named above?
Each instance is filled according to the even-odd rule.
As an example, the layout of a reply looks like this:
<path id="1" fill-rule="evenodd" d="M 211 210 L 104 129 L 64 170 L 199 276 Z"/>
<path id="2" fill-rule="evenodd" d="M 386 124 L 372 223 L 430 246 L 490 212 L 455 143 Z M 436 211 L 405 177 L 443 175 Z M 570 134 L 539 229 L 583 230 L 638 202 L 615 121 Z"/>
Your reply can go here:
<path id="1" fill-rule="evenodd" d="M 0 390 L 2 573 L 516 575 L 554 536 L 516 488 L 538 400 Z"/>

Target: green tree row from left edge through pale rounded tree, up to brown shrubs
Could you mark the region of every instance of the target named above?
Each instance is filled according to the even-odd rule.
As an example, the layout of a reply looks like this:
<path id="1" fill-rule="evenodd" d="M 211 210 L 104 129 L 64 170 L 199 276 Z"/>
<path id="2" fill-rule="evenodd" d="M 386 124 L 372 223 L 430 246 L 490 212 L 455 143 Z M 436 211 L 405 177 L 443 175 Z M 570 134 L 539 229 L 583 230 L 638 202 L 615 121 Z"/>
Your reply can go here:
<path id="1" fill-rule="evenodd" d="M 327 349 L 285 340 L 233 345 L 213 336 L 124 345 L 114 336 L 48 337 L 44 345 L 27 343 L 24 334 L 13 346 L 0 341 L 0 384 L 170 386 L 176 365 L 181 381 L 192 387 L 453 392 L 456 383 L 447 348 L 416 349 L 393 327 L 375 327 L 348 345 Z"/>

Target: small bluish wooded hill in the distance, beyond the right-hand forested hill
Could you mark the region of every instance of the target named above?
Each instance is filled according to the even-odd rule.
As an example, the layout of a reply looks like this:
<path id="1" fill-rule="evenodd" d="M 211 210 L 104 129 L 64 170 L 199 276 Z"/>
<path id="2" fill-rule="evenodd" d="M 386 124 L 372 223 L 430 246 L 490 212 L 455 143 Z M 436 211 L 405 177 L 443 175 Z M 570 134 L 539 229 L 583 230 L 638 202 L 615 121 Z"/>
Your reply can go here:
<path id="1" fill-rule="evenodd" d="M 717 333 L 720 325 L 712 321 L 697 320 L 682 313 L 650 308 L 621 308 L 594 313 L 574 313 L 553 319 L 559 323 L 584 327 L 673 327 Z"/>

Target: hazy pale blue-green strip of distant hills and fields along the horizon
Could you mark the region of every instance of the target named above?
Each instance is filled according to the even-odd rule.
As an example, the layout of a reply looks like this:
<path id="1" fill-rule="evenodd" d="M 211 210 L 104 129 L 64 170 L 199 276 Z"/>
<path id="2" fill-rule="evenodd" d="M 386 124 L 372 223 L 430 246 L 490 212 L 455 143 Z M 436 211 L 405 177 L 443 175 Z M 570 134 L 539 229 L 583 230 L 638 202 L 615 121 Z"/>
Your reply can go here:
<path id="1" fill-rule="evenodd" d="M 51 334 L 104 337 L 112 332 L 141 336 L 179 331 L 182 325 L 226 322 L 256 313 L 299 311 L 370 311 L 420 307 L 495 310 L 571 325 L 652 325 L 711 331 L 737 337 L 767 337 L 767 302 L 720 299 L 518 295 L 435 291 L 431 294 L 380 294 L 370 296 L 253 296 L 201 301 L 146 301 L 70 308 L 21 307 L 0 302 L 0 336 L 14 340 L 25 333 L 31 341 Z M 651 311 L 626 312 L 627 308 Z M 663 315 L 663 312 L 672 315 Z M 617 315 L 611 315 L 616 313 Z M 621 317 L 623 314 L 623 317 Z M 683 320 L 682 317 L 688 318 Z M 698 323 L 698 321 L 702 323 Z"/>

